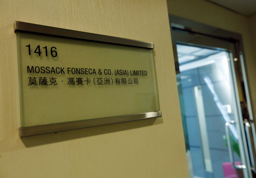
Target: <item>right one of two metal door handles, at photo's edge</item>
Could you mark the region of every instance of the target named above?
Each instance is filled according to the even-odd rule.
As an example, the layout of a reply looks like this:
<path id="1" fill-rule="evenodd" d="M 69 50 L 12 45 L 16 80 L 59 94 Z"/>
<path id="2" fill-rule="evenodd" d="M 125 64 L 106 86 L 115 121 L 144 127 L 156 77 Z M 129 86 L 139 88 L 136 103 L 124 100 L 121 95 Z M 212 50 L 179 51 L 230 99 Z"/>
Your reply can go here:
<path id="1" fill-rule="evenodd" d="M 254 123 L 252 121 L 248 121 L 244 119 L 244 127 L 245 127 L 245 134 L 247 137 L 247 143 L 249 148 L 249 155 L 251 159 L 252 171 L 256 173 L 255 168 L 255 160 L 256 160 L 256 153 L 255 153 L 255 145 L 252 138 L 252 127 L 254 127 Z"/>

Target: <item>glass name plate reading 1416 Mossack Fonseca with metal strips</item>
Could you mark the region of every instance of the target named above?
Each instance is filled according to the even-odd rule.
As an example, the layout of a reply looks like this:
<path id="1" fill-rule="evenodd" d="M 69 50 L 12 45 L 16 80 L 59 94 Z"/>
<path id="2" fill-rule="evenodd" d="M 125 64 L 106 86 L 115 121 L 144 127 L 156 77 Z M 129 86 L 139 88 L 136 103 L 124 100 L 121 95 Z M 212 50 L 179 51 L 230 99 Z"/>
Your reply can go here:
<path id="1" fill-rule="evenodd" d="M 20 137 L 161 117 L 154 44 L 15 21 Z"/>

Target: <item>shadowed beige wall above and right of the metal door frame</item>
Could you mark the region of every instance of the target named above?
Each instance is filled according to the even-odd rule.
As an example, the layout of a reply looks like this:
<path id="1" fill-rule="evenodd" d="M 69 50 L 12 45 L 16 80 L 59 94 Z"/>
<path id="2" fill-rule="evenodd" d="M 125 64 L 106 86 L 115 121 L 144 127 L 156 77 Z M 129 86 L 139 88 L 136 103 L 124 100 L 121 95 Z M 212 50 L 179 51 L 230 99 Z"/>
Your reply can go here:
<path id="1" fill-rule="evenodd" d="M 254 116 L 256 116 L 256 60 L 253 57 L 255 45 L 252 45 L 252 35 L 254 35 L 256 42 L 256 17 L 251 18 L 251 20 L 254 19 L 254 31 L 252 31 L 251 33 L 251 24 L 248 17 L 238 14 L 236 12 L 229 11 L 206 0 L 167 0 L 167 6 L 168 12 L 172 15 L 191 19 L 200 23 L 219 27 L 242 35 L 245 53 L 245 67 L 248 74 L 247 78 L 251 94 L 252 110 L 254 112 Z"/>

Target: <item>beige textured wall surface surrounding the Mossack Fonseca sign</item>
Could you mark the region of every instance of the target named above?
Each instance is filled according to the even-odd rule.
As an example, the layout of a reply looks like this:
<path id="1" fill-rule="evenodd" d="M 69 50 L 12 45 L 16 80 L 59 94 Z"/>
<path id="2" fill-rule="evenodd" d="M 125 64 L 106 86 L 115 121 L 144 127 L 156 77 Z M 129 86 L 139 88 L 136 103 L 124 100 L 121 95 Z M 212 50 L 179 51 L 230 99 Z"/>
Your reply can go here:
<path id="1" fill-rule="evenodd" d="M 0 8 L 1 178 L 188 177 L 164 0 L 0 0 Z M 15 20 L 155 43 L 163 117 L 20 139 Z"/>

